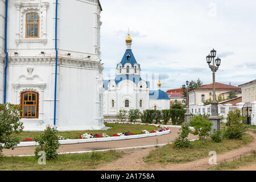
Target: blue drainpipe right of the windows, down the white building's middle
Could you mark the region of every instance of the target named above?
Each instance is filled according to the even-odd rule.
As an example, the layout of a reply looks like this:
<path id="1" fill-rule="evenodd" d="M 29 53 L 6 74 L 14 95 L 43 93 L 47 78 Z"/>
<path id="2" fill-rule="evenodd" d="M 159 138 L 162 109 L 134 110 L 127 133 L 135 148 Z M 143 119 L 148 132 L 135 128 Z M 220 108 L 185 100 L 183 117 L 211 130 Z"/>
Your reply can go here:
<path id="1" fill-rule="evenodd" d="M 57 13 L 58 13 L 58 0 L 56 0 L 56 12 L 55 12 L 55 88 L 54 88 L 54 122 L 53 125 L 56 125 L 56 93 L 57 93 L 57 64 L 58 64 L 58 50 L 57 50 Z"/>

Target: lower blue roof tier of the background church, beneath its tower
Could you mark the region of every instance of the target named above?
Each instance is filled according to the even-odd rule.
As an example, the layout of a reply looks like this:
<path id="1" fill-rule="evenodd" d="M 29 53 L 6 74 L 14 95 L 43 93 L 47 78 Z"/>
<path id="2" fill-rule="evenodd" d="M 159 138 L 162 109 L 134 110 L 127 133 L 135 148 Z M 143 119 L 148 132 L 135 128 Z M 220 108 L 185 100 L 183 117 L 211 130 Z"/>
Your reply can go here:
<path id="1" fill-rule="evenodd" d="M 138 82 L 142 80 L 142 78 L 139 75 L 118 75 L 115 77 L 115 84 L 118 85 L 119 82 L 122 80 L 130 80 L 133 81 L 136 85 L 138 85 Z M 110 80 L 103 80 L 103 88 L 105 90 L 108 90 L 108 84 Z M 146 81 L 147 86 L 149 86 L 150 82 Z"/>

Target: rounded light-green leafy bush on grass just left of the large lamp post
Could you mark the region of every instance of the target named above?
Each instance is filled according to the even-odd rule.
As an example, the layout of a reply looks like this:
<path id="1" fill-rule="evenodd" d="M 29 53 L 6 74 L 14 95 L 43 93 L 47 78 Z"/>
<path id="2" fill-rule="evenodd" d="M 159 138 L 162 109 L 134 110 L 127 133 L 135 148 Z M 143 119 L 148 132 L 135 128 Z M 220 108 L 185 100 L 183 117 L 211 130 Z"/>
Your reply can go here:
<path id="1" fill-rule="evenodd" d="M 199 135 L 199 139 L 201 139 L 202 144 L 204 144 L 204 139 L 209 136 L 213 123 L 205 119 L 203 115 L 196 115 L 190 119 L 189 124 L 195 129 L 195 131 L 191 131 L 191 133 Z"/>

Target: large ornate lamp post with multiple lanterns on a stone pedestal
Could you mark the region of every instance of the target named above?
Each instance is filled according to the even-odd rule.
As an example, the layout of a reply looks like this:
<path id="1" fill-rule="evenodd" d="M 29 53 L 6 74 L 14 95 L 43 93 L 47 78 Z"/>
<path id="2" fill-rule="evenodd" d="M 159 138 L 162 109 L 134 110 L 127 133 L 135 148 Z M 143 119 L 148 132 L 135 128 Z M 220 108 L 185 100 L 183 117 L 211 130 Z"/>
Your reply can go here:
<path id="1" fill-rule="evenodd" d="M 207 56 L 207 63 L 209 65 L 210 70 L 212 71 L 212 84 L 213 84 L 213 101 L 211 106 L 211 115 L 209 117 L 210 122 L 213 123 L 212 131 L 210 133 L 213 133 L 213 129 L 220 130 L 220 117 L 218 117 L 218 101 L 216 100 L 216 90 L 215 90 L 215 73 L 218 70 L 218 67 L 220 66 L 221 59 L 216 57 L 216 50 L 212 49 L 210 51 L 210 54 Z M 210 64 L 212 63 L 212 64 Z M 216 64 L 216 65 L 215 65 Z"/>

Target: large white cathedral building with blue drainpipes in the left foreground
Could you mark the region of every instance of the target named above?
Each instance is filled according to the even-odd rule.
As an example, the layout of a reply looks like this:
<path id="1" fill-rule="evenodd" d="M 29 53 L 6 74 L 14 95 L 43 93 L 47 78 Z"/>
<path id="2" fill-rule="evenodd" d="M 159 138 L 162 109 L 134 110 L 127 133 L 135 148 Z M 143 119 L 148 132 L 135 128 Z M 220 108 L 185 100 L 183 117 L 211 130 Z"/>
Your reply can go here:
<path id="1" fill-rule="evenodd" d="M 0 1 L 0 103 L 22 105 L 24 130 L 105 127 L 101 11 L 98 0 Z"/>

